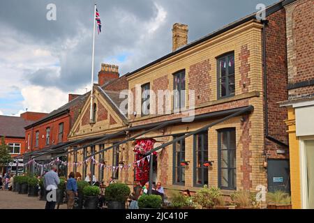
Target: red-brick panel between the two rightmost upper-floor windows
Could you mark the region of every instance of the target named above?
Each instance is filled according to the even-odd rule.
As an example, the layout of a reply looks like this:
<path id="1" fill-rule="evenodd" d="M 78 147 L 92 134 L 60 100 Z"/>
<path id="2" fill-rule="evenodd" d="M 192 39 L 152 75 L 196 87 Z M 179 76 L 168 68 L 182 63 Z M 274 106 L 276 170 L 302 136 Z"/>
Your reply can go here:
<path id="1" fill-rule="evenodd" d="M 190 66 L 190 71 L 188 72 L 188 89 L 195 91 L 196 106 L 209 101 L 209 95 L 211 94 L 209 87 L 211 84 L 210 70 L 211 64 L 209 64 L 209 59 Z"/>

